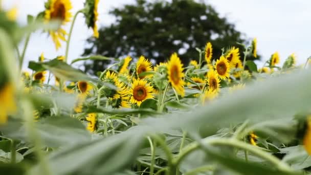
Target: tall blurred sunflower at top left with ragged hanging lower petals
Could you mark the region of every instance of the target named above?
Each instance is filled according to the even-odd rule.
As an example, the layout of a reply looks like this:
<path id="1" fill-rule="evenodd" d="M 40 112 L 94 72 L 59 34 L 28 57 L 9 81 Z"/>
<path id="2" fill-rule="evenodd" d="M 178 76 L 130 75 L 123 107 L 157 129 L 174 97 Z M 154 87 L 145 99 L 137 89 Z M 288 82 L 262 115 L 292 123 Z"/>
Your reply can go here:
<path id="1" fill-rule="evenodd" d="M 45 7 L 45 20 L 47 22 L 51 20 L 60 20 L 62 26 L 70 22 L 72 17 L 72 13 L 70 12 L 72 9 L 70 0 L 49 0 L 45 4 Z M 60 40 L 66 41 L 66 31 L 60 27 L 55 31 L 50 30 L 49 33 L 55 43 L 56 50 L 58 50 L 58 48 L 61 47 Z"/>

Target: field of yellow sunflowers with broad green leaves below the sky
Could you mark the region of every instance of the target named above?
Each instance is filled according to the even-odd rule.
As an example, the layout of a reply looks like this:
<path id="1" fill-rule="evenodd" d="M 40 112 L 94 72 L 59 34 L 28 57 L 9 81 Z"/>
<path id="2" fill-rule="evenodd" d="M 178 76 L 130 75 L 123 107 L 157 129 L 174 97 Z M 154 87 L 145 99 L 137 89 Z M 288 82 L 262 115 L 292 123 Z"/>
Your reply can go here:
<path id="1" fill-rule="evenodd" d="M 98 0 L 84 5 L 72 12 L 70 0 L 48 0 L 26 26 L 0 6 L 1 174 L 309 173 L 309 58 L 280 64 L 275 52 L 256 65 L 247 60 L 255 38 L 220 57 L 207 41 L 189 65 L 176 53 L 157 65 L 144 56 L 69 61 L 77 15 L 99 35 Z M 38 53 L 26 71 L 35 31 L 66 50 Z M 72 66 L 87 60 L 112 63 L 97 76 Z"/>

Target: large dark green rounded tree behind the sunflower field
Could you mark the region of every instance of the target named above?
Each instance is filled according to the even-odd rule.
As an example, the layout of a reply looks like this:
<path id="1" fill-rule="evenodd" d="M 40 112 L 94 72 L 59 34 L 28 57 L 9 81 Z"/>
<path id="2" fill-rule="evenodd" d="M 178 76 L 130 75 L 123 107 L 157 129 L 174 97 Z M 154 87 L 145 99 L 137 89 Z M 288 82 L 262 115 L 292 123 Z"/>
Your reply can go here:
<path id="1" fill-rule="evenodd" d="M 144 55 L 160 62 L 177 52 L 183 63 L 188 63 L 198 59 L 195 48 L 203 49 L 207 41 L 213 45 L 214 59 L 221 55 L 223 47 L 240 47 L 237 42 L 245 42 L 235 26 L 219 17 L 212 6 L 193 0 L 137 0 L 136 4 L 113 9 L 110 14 L 116 22 L 101 28 L 98 39 L 87 40 L 91 47 L 85 49 L 84 55 Z M 102 71 L 106 63 L 86 63 L 85 71 Z"/>

